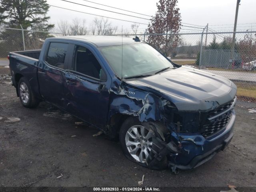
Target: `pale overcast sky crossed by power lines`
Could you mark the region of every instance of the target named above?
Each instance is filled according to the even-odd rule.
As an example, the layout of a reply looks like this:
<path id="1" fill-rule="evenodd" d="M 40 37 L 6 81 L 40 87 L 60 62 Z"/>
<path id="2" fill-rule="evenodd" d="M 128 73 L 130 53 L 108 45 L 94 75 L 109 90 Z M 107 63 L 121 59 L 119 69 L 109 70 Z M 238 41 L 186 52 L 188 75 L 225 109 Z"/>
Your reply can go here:
<path id="1" fill-rule="evenodd" d="M 143 16 L 135 13 L 125 12 L 118 9 L 109 8 L 106 6 L 100 6 L 84 0 L 68 0 L 76 2 L 79 4 L 84 4 L 88 6 L 94 6 L 97 8 L 102 8 L 106 10 L 111 10 L 115 12 L 121 12 L 125 14 L 131 14 L 133 16 L 150 18 L 148 16 Z M 106 4 L 108 6 L 113 6 L 117 8 L 122 8 L 125 10 L 130 10 L 133 12 L 138 12 L 146 15 L 154 15 L 156 12 L 156 2 L 158 0 L 90 0 L 100 4 Z M 63 8 L 69 8 L 73 10 L 78 10 L 82 12 L 88 12 L 92 14 L 98 14 L 102 16 L 108 16 L 123 20 L 130 20 L 134 22 L 140 22 L 148 24 L 148 20 L 141 18 L 134 18 L 131 16 L 125 16 L 121 14 L 115 14 L 111 12 L 106 12 L 103 10 L 97 10 L 94 8 L 89 8 L 86 6 L 80 6 L 77 4 L 72 4 L 69 2 L 64 2 L 62 0 L 48 0 L 48 4 L 54 6 L 60 6 Z M 256 0 L 241 0 L 238 12 L 238 30 L 246 29 L 256 29 Z M 179 0 L 178 7 L 180 8 L 181 19 L 184 23 L 202 25 L 205 26 L 209 23 L 210 27 L 214 30 L 231 31 L 232 24 L 234 24 L 234 16 L 236 10 L 236 0 Z M 57 24 L 59 20 L 72 21 L 74 18 L 86 19 L 88 26 L 95 16 L 73 12 L 70 10 L 64 10 L 60 8 L 51 7 L 48 15 L 51 17 L 50 22 Z M 118 21 L 110 19 L 113 26 L 118 26 L 118 30 L 121 30 L 122 26 L 124 29 L 130 30 L 132 23 Z M 246 24 L 253 23 L 253 24 Z M 226 25 L 230 24 L 230 25 Z M 218 25 L 218 26 L 216 26 Z M 147 28 L 147 25 L 140 24 L 141 29 Z M 183 27 L 187 28 L 188 27 Z M 193 29 L 193 28 L 191 28 Z M 195 29 L 198 30 L 198 29 Z"/>

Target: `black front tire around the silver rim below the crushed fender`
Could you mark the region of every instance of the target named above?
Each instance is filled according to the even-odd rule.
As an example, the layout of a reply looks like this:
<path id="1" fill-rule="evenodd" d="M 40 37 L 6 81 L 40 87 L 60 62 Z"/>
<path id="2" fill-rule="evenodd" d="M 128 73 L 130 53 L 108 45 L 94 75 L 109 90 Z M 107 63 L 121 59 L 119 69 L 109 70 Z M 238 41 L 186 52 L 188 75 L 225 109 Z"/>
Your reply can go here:
<path id="1" fill-rule="evenodd" d="M 126 141 L 125 141 L 126 132 L 132 126 L 136 126 L 136 125 L 142 125 L 142 123 L 136 117 L 129 117 L 123 122 L 123 124 L 120 128 L 120 132 L 119 132 L 119 140 L 120 140 L 120 143 L 122 146 L 122 151 L 124 152 L 124 155 L 126 156 L 126 158 L 128 158 L 128 160 L 131 160 L 132 162 L 135 162 L 141 166 L 148 167 L 148 165 L 146 163 L 138 162 L 137 160 L 135 160 L 131 156 L 131 154 L 128 152 L 128 149 L 126 147 Z M 156 169 L 156 170 L 162 170 L 164 168 L 167 168 L 167 158 L 163 158 L 160 162 L 158 162 L 158 164 L 156 164 L 155 166 L 153 166 L 151 168 Z"/>

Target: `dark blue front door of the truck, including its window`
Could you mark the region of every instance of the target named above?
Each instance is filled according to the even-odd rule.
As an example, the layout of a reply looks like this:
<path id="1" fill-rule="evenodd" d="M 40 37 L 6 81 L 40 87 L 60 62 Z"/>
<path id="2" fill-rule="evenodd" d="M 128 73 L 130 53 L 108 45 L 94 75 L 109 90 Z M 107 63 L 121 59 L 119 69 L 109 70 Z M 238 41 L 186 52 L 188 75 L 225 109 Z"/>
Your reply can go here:
<path id="1" fill-rule="evenodd" d="M 66 73 L 67 111 L 82 120 L 104 127 L 108 115 L 108 81 L 100 58 L 89 46 L 75 45 L 70 70 Z M 109 81 L 110 82 L 110 81 Z"/>

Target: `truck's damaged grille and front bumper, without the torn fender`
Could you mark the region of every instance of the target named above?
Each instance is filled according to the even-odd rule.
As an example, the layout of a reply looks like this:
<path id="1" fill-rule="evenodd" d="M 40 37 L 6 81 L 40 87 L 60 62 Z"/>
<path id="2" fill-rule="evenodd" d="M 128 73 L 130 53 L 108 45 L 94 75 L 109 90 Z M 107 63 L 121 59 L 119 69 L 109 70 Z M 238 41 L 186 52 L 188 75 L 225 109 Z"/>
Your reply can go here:
<path id="1" fill-rule="evenodd" d="M 160 128 L 160 123 L 144 123 L 156 134 L 154 146 L 147 159 L 150 168 L 156 168 L 154 166 L 159 162 L 165 162 L 165 157 L 168 167 L 175 173 L 177 168 L 195 168 L 210 160 L 220 150 L 224 150 L 231 141 L 236 98 L 206 112 L 180 112 L 170 102 L 164 103 L 165 115 L 160 121 L 168 128 L 168 132 Z"/>

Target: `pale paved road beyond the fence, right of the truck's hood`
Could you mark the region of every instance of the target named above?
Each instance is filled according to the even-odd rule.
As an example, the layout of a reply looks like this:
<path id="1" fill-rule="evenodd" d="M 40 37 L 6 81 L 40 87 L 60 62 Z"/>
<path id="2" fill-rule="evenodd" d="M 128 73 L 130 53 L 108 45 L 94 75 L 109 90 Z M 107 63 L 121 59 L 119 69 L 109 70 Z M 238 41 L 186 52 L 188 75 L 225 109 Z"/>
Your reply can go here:
<path id="1" fill-rule="evenodd" d="M 233 72 L 233 71 L 216 71 L 216 70 L 204 70 L 216 75 L 224 76 L 230 80 L 250 81 L 256 82 L 256 73 L 247 72 Z"/>

